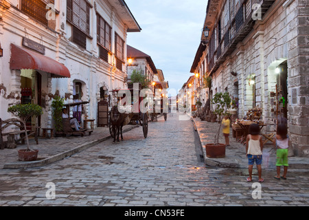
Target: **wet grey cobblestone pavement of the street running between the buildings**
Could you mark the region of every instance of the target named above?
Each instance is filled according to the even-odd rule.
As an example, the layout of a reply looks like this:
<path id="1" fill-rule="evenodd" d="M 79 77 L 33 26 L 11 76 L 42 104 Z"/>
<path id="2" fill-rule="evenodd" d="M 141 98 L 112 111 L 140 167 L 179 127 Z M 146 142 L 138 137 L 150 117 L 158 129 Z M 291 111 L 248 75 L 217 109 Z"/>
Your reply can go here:
<path id="1" fill-rule="evenodd" d="M 146 139 L 139 127 L 123 142 L 106 140 L 47 166 L 0 170 L 0 206 L 308 206 L 308 170 L 279 181 L 265 170 L 255 188 L 246 169 L 206 167 L 192 121 L 179 116 L 187 117 L 150 123 Z M 55 199 L 46 197 L 50 182 Z"/>

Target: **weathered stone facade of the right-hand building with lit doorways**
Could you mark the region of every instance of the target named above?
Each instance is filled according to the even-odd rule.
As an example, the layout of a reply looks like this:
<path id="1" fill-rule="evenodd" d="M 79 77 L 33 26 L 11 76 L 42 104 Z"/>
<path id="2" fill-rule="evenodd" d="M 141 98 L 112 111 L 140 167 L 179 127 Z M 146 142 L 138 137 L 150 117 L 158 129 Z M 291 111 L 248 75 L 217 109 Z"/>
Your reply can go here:
<path id="1" fill-rule="evenodd" d="M 249 3 L 244 1 L 244 7 Z M 224 3 L 216 4 L 218 22 Z M 278 91 L 282 91 L 280 96 L 287 99 L 284 104 L 294 153 L 301 157 L 309 156 L 308 18 L 308 0 L 273 1 L 235 49 L 226 53 L 222 50 L 214 65 L 207 63 L 205 72 L 213 78 L 213 94 L 228 91 L 232 98 L 239 99 L 238 118 L 243 118 L 255 106 L 263 109 L 262 118 L 268 124 L 263 130 L 265 133 L 275 131 L 276 113 L 271 92 L 276 92 L 277 85 Z M 209 55 L 209 44 L 205 53 Z M 208 61 L 210 58 L 208 56 Z"/>

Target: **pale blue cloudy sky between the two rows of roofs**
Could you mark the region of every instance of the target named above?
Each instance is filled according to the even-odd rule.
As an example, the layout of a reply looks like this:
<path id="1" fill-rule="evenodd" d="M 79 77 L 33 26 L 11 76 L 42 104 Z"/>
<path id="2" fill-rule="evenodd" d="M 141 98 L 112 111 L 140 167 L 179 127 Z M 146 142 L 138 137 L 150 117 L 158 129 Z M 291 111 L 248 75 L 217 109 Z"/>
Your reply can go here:
<path id="1" fill-rule="evenodd" d="M 207 0 L 125 0 L 141 27 L 127 44 L 151 56 L 170 89 L 187 82 L 201 43 Z"/>

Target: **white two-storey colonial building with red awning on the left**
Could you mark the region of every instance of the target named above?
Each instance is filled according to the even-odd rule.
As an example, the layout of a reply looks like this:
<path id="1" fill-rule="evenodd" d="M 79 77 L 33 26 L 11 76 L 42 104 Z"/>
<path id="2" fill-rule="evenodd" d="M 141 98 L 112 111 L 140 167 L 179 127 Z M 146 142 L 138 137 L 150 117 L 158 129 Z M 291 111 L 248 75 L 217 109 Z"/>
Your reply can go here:
<path id="1" fill-rule="evenodd" d="M 0 1 L 0 115 L 10 105 L 43 107 L 39 125 L 52 127 L 52 100 L 88 101 L 71 115 L 98 119 L 98 102 L 126 87 L 127 32 L 140 32 L 121 0 Z M 75 111 L 75 112 L 74 112 Z"/>

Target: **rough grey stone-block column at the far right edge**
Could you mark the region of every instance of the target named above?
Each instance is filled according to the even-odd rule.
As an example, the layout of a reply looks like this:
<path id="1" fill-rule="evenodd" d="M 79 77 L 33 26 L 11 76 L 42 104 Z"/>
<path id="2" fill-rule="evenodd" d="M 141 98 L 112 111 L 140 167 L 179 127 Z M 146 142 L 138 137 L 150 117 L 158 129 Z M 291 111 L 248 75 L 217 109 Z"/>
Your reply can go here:
<path id="1" fill-rule="evenodd" d="M 289 51 L 288 126 L 295 155 L 309 157 L 309 4 L 297 0 L 297 53 Z M 289 6 L 290 7 L 290 6 Z"/>

